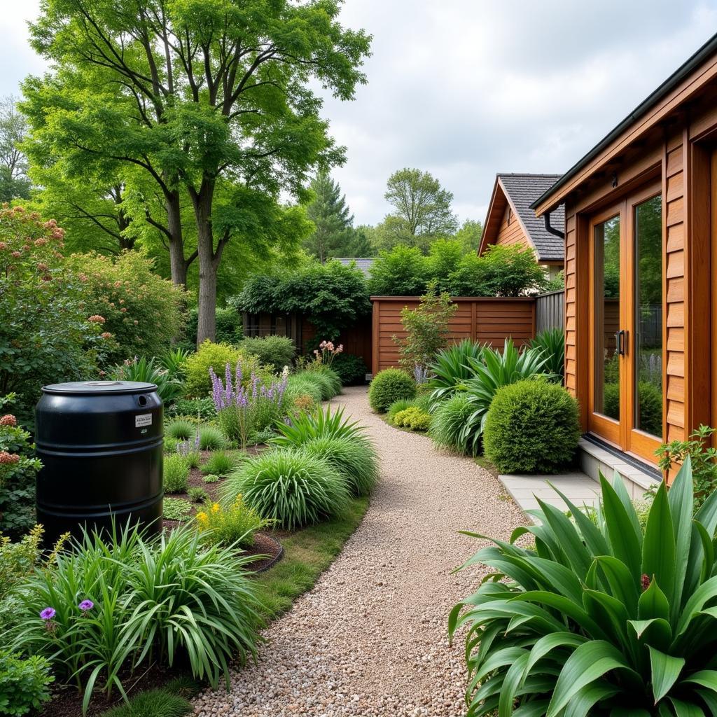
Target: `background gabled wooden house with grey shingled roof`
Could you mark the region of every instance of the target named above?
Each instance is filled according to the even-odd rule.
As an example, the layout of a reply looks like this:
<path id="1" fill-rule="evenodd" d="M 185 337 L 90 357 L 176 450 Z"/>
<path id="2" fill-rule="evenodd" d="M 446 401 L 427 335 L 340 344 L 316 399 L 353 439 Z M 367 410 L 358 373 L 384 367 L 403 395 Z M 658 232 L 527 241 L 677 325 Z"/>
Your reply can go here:
<path id="1" fill-rule="evenodd" d="M 554 278 L 564 265 L 564 214 L 558 206 L 543 217 L 533 201 L 560 179 L 559 174 L 496 174 L 478 254 L 491 244 L 515 244 L 532 249 L 538 264 Z"/>

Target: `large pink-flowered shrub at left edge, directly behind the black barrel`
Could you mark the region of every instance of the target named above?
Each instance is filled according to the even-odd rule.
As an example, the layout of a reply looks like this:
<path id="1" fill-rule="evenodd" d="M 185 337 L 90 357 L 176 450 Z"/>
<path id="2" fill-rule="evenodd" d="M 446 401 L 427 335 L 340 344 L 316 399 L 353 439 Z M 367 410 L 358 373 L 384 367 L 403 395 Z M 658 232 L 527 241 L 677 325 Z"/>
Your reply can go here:
<path id="1" fill-rule="evenodd" d="M 0 206 L 0 395 L 32 422 L 44 384 L 96 377 L 112 339 L 85 305 L 80 277 L 63 260 L 64 232 L 20 206 Z M 92 320 L 90 320 L 92 318 Z"/>

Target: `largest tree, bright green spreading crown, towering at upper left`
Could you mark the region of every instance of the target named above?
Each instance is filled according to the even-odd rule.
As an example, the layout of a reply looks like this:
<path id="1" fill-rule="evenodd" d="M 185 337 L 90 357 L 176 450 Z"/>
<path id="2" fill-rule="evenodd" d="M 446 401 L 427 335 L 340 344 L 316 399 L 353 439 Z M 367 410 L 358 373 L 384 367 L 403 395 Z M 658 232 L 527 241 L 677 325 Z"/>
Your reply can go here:
<path id="1" fill-rule="evenodd" d="M 186 280 L 181 193 L 194 214 L 197 340 L 213 338 L 227 243 L 271 220 L 263 197 L 305 196 L 343 161 L 319 116 L 318 82 L 353 98 L 370 37 L 338 22 L 340 0 L 44 0 L 32 43 L 56 69 L 26 84 L 42 138 L 75 162 L 151 176 L 166 208 L 172 276 Z M 57 95 L 53 103 L 43 102 Z M 74 107 L 63 107 L 67 103 Z M 38 123 L 39 124 L 39 123 Z M 181 276 L 182 265 L 185 276 Z M 183 282 L 184 283 L 184 282 Z"/>

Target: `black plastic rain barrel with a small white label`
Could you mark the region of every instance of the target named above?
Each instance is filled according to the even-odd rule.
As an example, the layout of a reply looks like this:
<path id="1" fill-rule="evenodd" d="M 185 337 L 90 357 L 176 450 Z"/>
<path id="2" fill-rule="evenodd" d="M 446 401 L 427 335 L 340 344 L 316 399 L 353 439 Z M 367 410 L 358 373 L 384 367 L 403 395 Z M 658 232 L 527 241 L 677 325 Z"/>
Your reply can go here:
<path id="1" fill-rule="evenodd" d="M 43 386 L 35 408 L 37 522 L 44 542 L 82 527 L 140 523 L 161 530 L 162 402 L 154 384 L 76 381 Z"/>

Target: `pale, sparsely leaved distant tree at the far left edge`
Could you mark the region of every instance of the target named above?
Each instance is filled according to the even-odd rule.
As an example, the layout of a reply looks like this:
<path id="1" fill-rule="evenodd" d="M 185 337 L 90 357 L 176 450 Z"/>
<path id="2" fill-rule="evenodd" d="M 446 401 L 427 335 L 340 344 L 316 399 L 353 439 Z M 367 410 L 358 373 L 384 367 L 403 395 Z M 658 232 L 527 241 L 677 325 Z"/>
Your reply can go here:
<path id="1" fill-rule="evenodd" d="M 26 133 L 27 120 L 16 99 L 12 95 L 0 98 L 0 203 L 29 199 L 27 158 L 21 149 Z"/>

